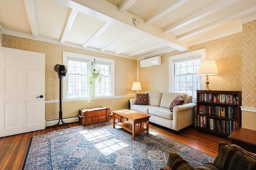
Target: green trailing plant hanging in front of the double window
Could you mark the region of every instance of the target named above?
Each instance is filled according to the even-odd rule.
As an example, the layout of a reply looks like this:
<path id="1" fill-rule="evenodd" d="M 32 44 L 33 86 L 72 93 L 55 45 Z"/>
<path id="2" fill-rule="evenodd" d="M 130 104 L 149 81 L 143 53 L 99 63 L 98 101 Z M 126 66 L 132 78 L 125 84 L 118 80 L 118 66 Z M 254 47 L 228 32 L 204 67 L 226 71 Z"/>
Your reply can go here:
<path id="1" fill-rule="evenodd" d="M 95 96 L 96 91 L 96 80 L 98 80 L 98 86 L 100 86 L 100 82 L 102 81 L 102 73 L 100 72 L 100 69 L 91 69 L 89 71 L 88 76 L 88 95 L 87 95 L 87 104 L 89 106 L 89 103 L 92 98 Z"/>

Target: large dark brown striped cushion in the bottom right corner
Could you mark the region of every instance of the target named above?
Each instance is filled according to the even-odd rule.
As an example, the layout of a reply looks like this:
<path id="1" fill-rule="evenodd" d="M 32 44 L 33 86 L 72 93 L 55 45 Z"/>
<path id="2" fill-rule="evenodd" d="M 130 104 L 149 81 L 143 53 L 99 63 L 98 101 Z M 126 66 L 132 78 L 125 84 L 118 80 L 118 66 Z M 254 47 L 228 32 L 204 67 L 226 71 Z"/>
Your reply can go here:
<path id="1" fill-rule="evenodd" d="M 220 142 L 214 164 L 223 170 L 256 170 L 256 156 L 237 145 Z"/>

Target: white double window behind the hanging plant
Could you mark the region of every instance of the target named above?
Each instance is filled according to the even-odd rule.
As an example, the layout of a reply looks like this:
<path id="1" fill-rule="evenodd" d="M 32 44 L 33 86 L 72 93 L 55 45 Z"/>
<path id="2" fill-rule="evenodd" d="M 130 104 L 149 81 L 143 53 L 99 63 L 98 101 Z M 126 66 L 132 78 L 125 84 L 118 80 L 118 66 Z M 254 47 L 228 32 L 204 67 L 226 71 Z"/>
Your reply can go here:
<path id="1" fill-rule="evenodd" d="M 95 80 L 95 98 L 114 96 L 114 60 L 63 52 L 63 63 L 68 68 L 63 82 L 64 99 L 87 98 L 88 73 L 94 68 L 102 73 L 100 84 L 98 78 Z"/>

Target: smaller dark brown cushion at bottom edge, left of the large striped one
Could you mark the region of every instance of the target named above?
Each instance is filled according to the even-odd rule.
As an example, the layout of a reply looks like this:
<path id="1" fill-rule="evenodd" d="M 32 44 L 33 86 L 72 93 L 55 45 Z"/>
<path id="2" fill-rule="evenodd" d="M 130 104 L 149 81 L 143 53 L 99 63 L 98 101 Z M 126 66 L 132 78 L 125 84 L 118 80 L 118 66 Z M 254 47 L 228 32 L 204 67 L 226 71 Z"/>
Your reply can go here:
<path id="1" fill-rule="evenodd" d="M 172 170 L 196 170 L 196 168 L 174 152 L 169 153 L 166 165 Z"/>

